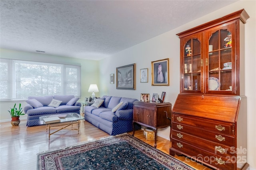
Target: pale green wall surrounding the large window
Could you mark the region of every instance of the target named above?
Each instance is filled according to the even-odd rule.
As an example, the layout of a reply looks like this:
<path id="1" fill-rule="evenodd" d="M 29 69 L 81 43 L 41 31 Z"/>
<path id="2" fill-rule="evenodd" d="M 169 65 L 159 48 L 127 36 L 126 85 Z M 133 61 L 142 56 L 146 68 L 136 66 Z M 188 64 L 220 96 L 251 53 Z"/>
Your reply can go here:
<path id="1" fill-rule="evenodd" d="M 98 84 L 99 80 L 99 61 L 74 59 L 68 57 L 60 57 L 54 55 L 46 55 L 40 53 L 28 53 L 24 51 L 15 51 L 9 49 L 0 49 L 1 58 L 6 59 L 18 59 L 48 63 L 62 63 L 62 64 L 77 64 L 81 65 L 81 99 L 78 102 L 84 102 L 85 97 L 89 97 L 92 93 L 88 92 L 90 84 Z M 25 100 L 19 101 L 2 101 L 0 102 L 0 121 L 10 121 L 10 113 L 8 110 L 10 107 L 16 106 L 21 103 L 22 107 L 26 106 Z M 20 119 L 26 119 L 27 115 L 20 116 Z"/>

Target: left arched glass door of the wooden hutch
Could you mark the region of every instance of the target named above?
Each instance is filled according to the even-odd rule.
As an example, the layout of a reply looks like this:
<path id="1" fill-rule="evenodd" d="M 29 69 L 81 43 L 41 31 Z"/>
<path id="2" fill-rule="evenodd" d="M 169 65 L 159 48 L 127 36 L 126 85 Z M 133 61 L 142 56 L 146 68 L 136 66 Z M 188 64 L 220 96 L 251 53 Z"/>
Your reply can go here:
<path id="1" fill-rule="evenodd" d="M 202 90 L 202 44 L 199 39 L 182 40 L 182 92 L 201 92 Z"/>

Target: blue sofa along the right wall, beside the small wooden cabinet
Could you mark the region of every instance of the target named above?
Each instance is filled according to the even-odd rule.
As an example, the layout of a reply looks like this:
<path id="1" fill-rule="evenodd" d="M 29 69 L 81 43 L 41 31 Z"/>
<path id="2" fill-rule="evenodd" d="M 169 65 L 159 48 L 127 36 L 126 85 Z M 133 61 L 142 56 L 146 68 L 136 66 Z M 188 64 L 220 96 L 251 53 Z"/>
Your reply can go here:
<path id="1" fill-rule="evenodd" d="M 99 99 L 104 100 L 100 107 L 84 107 L 84 119 L 86 121 L 110 135 L 132 131 L 133 102 L 137 99 L 115 96 L 103 96 Z M 112 109 L 121 102 L 122 105 L 113 112 Z M 135 129 L 140 129 L 140 125 L 137 125 Z"/>

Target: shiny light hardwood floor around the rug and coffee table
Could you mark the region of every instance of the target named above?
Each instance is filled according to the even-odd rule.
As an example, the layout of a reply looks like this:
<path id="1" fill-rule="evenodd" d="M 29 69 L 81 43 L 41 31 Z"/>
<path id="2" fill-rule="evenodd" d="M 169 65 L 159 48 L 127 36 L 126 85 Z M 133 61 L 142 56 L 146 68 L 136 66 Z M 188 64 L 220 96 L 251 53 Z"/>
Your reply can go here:
<path id="1" fill-rule="evenodd" d="M 77 130 L 64 129 L 51 135 L 50 140 L 48 140 L 48 133 L 44 125 L 26 127 L 26 120 L 21 120 L 18 126 L 12 126 L 10 122 L 2 122 L 0 123 L 0 170 L 36 170 L 36 154 L 38 152 L 68 147 L 108 136 L 110 136 L 108 133 L 87 121 L 80 123 L 79 134 Z M 154 147 L 154 141 L 147 141 L 142 130 L 135 131 L 134 136 Z M 157 149 L 169 154 L 170 146 L 170 141 L 157 137 Z M 210 170 L 184 156 L 175 155 L 175 158 L 195 169 Z"/>

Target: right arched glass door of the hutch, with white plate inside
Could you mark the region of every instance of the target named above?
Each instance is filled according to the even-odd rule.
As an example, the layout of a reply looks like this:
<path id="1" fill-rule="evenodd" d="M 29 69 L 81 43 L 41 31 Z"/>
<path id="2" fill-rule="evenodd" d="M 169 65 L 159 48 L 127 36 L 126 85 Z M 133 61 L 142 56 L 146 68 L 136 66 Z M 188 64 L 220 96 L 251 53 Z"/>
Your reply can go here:
<path id="1" fill-rule="evenodd" d="M 230 23 L 206 33 L 208 50 L 205 59 L 206 93 L 235 94 L 236 43 L 235 24 Z"/>

